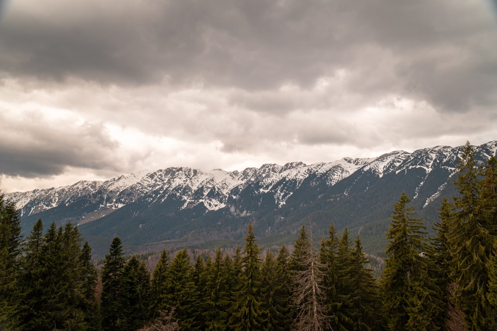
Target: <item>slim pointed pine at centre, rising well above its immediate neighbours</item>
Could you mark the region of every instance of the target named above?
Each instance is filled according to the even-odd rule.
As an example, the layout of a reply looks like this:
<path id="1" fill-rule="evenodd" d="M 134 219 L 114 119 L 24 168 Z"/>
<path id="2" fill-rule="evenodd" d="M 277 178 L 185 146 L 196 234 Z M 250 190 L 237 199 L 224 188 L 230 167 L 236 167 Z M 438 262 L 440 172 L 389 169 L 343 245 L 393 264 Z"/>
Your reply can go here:
<path id="1" fill-rule="evenodd" d="M 264 311 L 261 309 L 261 275 L 259 248 L 255 243 L 252 223 L 248 224 L 248 235 L 242 257 L 242 272 L 238 277 L 238 290 L 231 307 L 230 325 L 235 331 L 260 330 Z"/>

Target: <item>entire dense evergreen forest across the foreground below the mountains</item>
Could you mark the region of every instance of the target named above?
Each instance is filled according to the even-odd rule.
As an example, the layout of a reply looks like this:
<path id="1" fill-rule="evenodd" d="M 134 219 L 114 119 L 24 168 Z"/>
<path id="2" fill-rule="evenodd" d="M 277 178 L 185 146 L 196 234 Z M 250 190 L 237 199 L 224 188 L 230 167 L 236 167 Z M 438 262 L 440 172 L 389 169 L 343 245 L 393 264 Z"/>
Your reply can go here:
<path id="1" fill-rule="evenodd" d="M 152 275 L 115 237 L 98 273 L 77 227 L 23 238 L 0 195 L 0 330 L 497 330 L 497 159 L 467 143 L 454 186 L 431 239 L 399 198 L 379 279 L 359 236 L 331 224 L 319 244 L 311 221 L 291 254 L 260 252 L 249 224 L 234 256 L 163 251 Z"/>

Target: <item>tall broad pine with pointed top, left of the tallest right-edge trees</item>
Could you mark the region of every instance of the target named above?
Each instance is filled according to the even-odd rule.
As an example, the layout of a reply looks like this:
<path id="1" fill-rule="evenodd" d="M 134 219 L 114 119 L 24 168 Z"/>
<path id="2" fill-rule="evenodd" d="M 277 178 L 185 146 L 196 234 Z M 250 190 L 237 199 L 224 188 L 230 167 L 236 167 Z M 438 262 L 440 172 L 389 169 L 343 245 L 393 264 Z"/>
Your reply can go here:
<path id="1" fill-rule="evenodd" d="M 405 193 L 394 206 L 387 233 L 382 274 L 383 306 L 390 330 L 436 330 L 433 315 L 439 309 L 427 287 L 428 264 L 425 227 L 414 218 L 414 207 Z"/>

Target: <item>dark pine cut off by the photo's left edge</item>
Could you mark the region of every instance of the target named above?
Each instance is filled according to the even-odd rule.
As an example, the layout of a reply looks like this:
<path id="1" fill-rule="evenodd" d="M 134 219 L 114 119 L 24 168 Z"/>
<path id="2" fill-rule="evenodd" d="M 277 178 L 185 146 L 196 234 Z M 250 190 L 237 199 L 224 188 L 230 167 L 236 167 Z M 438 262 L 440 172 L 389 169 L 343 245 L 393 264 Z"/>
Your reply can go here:
<path id="1" fill-rule="evenodd" d="M 15 204 L 0 192 L 0 329 L 13 330 L 16 325 L 21 240 Z"/>

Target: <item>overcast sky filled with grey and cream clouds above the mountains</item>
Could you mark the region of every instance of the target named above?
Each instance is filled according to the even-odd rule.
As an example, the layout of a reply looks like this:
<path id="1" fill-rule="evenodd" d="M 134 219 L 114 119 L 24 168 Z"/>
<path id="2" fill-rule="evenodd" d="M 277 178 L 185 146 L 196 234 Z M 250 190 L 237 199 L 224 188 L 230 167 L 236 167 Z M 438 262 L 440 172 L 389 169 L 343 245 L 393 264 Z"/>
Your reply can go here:
<path id="1" fill-rule="evenodd" d="M 497 139 L 496 0 L 0 0 L 0 189 Z"/>

